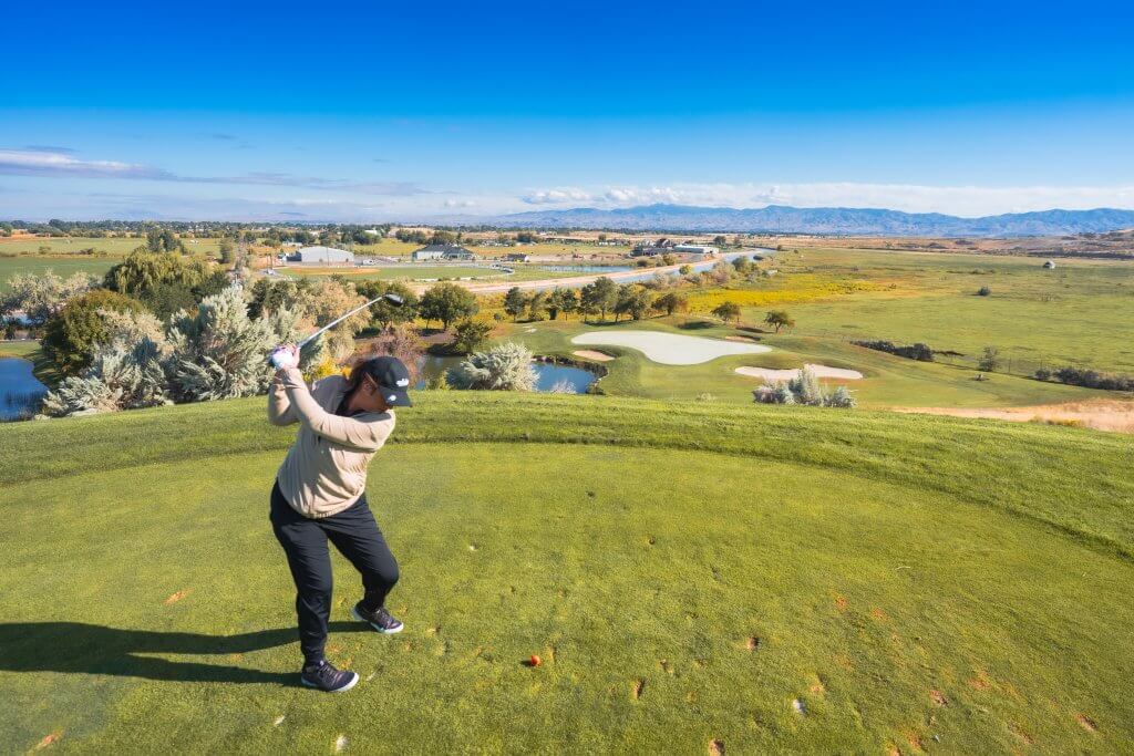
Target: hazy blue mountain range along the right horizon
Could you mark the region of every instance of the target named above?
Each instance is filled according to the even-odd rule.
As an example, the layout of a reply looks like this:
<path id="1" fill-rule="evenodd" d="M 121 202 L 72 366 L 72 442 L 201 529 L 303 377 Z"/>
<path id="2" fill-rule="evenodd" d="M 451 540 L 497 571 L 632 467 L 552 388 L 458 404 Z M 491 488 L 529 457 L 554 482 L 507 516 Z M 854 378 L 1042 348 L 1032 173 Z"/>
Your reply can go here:
<path id="1" fill-rule="evenodd" d="M 865 207 L 760 209 L 644 205 L 616 210 L 539 210 L 479 219 L 517 228 L 624 229 L 627 231 L 762 231 L 849 236 L 1064 236 L 1134 228 L 1134 210 L 1044 210 L 984 218 L 904 213 Z"/>

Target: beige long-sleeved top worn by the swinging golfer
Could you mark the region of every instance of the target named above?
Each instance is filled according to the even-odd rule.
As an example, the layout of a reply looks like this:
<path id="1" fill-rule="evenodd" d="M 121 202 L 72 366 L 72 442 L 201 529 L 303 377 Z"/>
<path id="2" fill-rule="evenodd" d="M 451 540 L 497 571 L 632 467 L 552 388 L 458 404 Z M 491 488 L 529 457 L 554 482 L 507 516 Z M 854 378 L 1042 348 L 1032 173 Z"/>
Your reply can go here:
<path id="1" fill-rule="evenodd" d="M 331 375 L 308 391 L 303 374 L 291 368 L 278 374 L 268 392 L 268 422 L 301 425 L 276 481 L 304 517 L 330 517 L 353 504 L 366 490 L 371 458 L 393 432 L 392 410 L 336 415 L 347 388 L 345 377 Z"/>

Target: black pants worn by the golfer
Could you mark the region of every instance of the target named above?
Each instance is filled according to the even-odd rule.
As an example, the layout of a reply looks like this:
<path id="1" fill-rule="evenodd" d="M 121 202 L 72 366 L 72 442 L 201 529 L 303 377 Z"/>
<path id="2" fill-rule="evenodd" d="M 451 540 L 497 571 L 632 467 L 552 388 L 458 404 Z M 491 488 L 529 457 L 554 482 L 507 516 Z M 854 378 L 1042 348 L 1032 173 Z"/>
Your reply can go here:
<path id="1" fill-rule="evenodd" d="M 398 562 L 378 529 L 366 494 L 348 508 L 321 519 L 295 511 L 279 484 L 272 486 L 272 529 L 287 553 L 295 579 L 295 611 L 299 615 L 299 646 L 307 663 L 323 659 L 327 621 L 331 614 L 331 554 L 335 547 L 362 574 L 363 608 L 374 611 L 398 581 Z"/>

